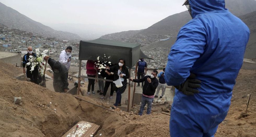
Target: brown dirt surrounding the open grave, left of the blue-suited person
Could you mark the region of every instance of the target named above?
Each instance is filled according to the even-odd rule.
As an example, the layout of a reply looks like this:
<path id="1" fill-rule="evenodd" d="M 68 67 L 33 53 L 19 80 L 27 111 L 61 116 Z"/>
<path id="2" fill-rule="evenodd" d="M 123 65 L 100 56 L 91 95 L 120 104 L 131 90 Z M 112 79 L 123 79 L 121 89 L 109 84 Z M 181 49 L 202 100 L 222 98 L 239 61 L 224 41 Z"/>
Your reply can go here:
<path id="1" fill-rule="evenodd" d="M 14 79 L 20 72 L 22 69 L 10 64 L 4 64 L 0 69 L 0 136 L 57 137 L 81 120 L 101 126 L 95 136 L 169 135 L 167 115 L 138 117 L 120 110 L 111 112 L 77 100 L 70 94 L 56 93 L 29 81 Z M 21 97 L 21 104 L 15 105 L 14 97 Z M 89 97 L 78 97 L 103 105 Z"/>

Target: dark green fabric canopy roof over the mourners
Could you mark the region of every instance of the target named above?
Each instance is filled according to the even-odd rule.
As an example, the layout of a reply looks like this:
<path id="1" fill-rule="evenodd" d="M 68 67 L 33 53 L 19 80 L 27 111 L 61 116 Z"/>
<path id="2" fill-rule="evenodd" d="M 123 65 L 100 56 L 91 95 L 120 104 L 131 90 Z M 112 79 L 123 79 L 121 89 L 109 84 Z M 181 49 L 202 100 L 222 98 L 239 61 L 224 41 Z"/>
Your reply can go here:
<path id="1" fill-rule="evenodd" d="M 138 43 L 125 43 L 107 39 L 95 39 L 90 41 L 80 41 L 79 60 L 111 61 L 118 63 L 120 58 L 125 59 L 126 66 L 132 67 L 141 58 L 151 59 L 140 49 Z M 105 57 L 106 56 L 106 57 Z M 108 58 L 110 56 L 110 58 Z"/>

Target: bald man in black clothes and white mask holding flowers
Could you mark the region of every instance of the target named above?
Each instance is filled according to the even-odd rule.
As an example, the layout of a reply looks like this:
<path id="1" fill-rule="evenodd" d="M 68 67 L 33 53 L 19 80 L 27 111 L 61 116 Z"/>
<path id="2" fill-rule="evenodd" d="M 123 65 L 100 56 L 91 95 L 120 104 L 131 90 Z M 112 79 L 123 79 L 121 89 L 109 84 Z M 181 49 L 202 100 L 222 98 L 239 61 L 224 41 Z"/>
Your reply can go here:
<path id="1" fill-rule="evenodd" d="M 30 78 L 31 82 L 39 84 L 38 83 L 38 66 L 36 66 L 33 71 L 30 71 L 31 65 L 27 65 L 27 67 L 26 67 L 27 71 L 25 70 L 25 66 L 29 62 L 29 60 L 28 60 L 29 56 L 36 57 L 37 55 L 35 53 L 33 53 L 33 49 L 31 46 L 29 46 L 27 48 L 27 52 L 28 53 L 23 56 L 23 61 L 22 61 L 23 73 L 27 74 L 27 78 Z"/>

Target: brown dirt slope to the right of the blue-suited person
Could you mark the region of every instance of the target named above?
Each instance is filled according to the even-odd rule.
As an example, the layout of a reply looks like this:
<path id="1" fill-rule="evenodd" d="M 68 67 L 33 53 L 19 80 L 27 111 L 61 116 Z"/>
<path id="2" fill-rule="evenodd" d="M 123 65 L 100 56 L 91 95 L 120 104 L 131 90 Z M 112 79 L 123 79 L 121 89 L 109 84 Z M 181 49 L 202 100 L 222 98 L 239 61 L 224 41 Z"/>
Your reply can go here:
<path id="1" fill-rule="evenodd" d="M 248 107 L 249 116 L 238 119 L 242 112 L 245 113 L 248 94 L 252 94 Z M 223 136 L 256 137 L 256 70 L 240 70 L 228 115 L 216 133 L 216 137 Z"/>

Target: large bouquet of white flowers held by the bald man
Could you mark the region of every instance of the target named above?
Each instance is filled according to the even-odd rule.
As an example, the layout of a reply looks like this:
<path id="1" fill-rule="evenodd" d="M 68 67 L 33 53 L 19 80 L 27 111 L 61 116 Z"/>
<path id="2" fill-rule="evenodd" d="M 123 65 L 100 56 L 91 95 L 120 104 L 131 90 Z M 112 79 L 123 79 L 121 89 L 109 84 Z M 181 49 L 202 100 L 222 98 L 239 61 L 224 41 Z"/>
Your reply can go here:
<path id="1" fill-rule="evenodd" d="M 29 62 L 27 63 L 27 65 L 31 65 L 31 73 L 34 70 L 34 68 L 38 65 L 38 68 L 41 70 L 41 75 L 43 75 L 42 72 L 44 72 L 44 64 L 45 64 L 45 60 L 44 57 L 48 56 L 46 53 L 48 52 L 48 50 L 44 50 L 42 53 L 40 53 L 39 49 L 36 49 L 36 55 L 37 57 L 34 57 L 32 55 L 29 56 Z"/>

